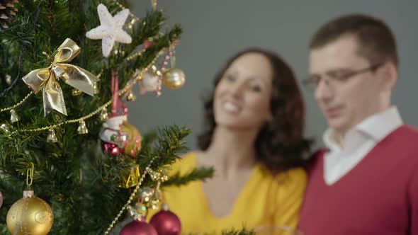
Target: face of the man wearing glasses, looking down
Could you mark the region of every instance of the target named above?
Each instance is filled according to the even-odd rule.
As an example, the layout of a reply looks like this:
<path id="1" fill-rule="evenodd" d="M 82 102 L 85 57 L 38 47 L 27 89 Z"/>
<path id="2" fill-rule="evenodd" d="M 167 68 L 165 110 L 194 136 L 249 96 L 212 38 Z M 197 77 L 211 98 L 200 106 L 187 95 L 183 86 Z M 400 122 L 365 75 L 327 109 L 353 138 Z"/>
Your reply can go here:
<path id="1" fill-rule="evenodd" d="M 353 35 L 344 35 L 310 52 L 315 99 L 329 127 L 342 135 L 380 111 L 378 65 L 358 55 L 357 43 Z"/>

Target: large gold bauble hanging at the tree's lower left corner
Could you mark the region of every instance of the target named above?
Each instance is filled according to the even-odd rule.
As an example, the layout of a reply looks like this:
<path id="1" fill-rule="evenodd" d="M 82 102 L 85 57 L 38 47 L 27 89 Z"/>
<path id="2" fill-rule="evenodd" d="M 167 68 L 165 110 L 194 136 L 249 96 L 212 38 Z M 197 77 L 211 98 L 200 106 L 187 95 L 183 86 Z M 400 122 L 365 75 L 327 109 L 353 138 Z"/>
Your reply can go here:
<path id="1" fill-rule="evenodd" d="M 54 214 L 47 202 L 24 191 L 7 213 L 7 228 L 13 235 L 46 235 L 51 230 Z"/>

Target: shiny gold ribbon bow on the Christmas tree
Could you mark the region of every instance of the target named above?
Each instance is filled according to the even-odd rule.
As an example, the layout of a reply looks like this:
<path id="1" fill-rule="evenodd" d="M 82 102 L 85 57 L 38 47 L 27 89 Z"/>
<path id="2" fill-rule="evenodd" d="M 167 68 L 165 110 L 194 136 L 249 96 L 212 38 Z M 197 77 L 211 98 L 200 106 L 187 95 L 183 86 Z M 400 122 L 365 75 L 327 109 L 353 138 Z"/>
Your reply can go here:
<path id="1" fill-rule="evenodd" d="M 82 69 L 70 62 L 81 52 L 81 48 L 70 38 L 67 38 L 62 45 L 58 47 L 58 53 L 55 55 L 54 62 L 50 67 L 43 69 L 35 69 L 23 77 L 23 81 L 35 93 L 43 88 L 43 108 L 45 116 L 52 110 L 67 115 L 65 108 L 64 96 L 58 79 L 62 79 L 69 86 L 83 91 L 84 93 L 94 96 L 94 83 L 98 78 L 86 69 Z"/>

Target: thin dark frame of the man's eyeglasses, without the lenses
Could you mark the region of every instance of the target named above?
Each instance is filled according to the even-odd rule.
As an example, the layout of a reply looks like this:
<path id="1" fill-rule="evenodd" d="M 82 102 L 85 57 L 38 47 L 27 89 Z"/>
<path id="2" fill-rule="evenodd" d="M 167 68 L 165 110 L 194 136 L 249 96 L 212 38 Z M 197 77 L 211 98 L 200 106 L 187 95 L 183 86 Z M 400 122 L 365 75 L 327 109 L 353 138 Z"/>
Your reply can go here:
<path id="1" fill-rule="evenodd" d="M 350 71 L 349 73 L 344 74 L 342 76 L 329 76 L 329 75 L 328 76 L 329 76 L 329 79 L 331 79 L 331 80 L 344 82 L 344 81 L 348 81 L 349 79 L 351 79 L 354 76 L 357 76 L 359 74 L 365 74 L 366 72 L 369 72 L 369 71 L 375 72 L 377 69 L 382 67 L 383 64 L 385 64 L 385 63 L 382 62 L 382 63 L 373 64 L 373 65 L 371 65 L 369 67 L 366 67 L 366 68 L 363 68 L 363 69 Z M 329 71 L 327 73 L 329 73 Z M 322 79 L 323 78 L 321 78 L 321 77 L 319 79 L 312 79 L 312 77 L 309 77 L 307 79 L 303 79 L 302 83 L 303 83 L 304 86 L 309 86 L 310 88 L 313 88 L 314 90 L 316 90 L 318 85 L 322 81 Z M 329 79 L 324 80 L 324 82 L 327 86 L 329 86 Z"/>

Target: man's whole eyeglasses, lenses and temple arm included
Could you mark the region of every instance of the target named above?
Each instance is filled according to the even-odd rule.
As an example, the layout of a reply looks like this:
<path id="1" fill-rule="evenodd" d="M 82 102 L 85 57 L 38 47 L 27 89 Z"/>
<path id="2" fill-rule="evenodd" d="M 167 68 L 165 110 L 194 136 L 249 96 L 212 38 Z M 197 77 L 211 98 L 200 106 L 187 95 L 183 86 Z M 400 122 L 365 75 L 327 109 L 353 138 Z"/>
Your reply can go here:
<path id="1" fill-rule="evenodd" d="M 304 79 L 302 82 L 305 86 L 308 86 L 315 90 L 319 86 L 320 82 L 324 80 L 324 83 L 329 87 L 335 87 L 339 84 L 343 84 L 345 81 L 357 76 L 359 74 L 364 74 L 368 71 L 376 71 L 384 63 L 374 64 L 371 67 L 364 69 L 351 70 L 351 69 L 337 69 L 332 71 L 327 71 L 327 78 L 323 78 L 320 75 L 311 76 L 310 78 Z"/>

